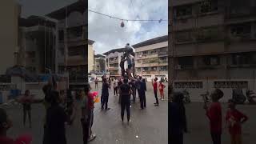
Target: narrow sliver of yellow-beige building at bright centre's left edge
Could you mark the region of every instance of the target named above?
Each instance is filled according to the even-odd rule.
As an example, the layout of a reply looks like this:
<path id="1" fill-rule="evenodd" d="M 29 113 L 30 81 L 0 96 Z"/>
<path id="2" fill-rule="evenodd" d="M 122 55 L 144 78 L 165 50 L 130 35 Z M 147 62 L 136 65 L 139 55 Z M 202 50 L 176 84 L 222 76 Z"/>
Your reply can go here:
<path id="1" fill-rule="evenodd" d="M 94 41 L 88 40 L 88 73 L 94 70 Z"/>

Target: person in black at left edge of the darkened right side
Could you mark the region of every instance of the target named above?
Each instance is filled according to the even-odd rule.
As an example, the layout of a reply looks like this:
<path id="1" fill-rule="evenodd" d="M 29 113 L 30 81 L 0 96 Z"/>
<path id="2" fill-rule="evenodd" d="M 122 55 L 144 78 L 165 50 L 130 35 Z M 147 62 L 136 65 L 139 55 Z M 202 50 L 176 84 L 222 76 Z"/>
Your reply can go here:
<path id="1" fill-rule="evenodd" d="M 183 104 L 184 95 L 175 92 L 173 102 L 168 106 L 170 110 L 170 143 L 183 144 L 183 133 L 187 133 L 186 109 Z"/>

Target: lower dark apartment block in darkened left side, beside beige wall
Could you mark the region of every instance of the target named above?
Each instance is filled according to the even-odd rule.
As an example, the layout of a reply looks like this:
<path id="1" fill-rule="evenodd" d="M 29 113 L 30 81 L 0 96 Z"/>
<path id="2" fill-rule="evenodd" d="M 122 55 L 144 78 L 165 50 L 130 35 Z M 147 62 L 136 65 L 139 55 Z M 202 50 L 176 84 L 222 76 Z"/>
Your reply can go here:
<path id="1" fill-rule="evenodd" d="M 55 72 L 55 23 L 38 16 L 19 18 L 19 59 L 26 70 L 37 74 Z"/>

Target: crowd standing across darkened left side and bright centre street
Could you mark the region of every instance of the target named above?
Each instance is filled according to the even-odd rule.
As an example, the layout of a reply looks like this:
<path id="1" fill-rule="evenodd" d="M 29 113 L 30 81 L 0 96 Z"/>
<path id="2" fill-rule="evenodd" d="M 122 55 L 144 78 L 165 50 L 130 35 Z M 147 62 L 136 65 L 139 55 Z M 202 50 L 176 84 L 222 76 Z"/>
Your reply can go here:
<path id="1" fill-rule="evenodd" d="M 152 86 L 154 87 L 154 94 L 156 98 L 155 106 L 158 103 L 158 89 L 161 98 L 164 98 L 164 85 L 154 78 Z M 98 79 L 95 79 L 95 89 L 98 89 Z M 121 120 L 124 121 L 124 114 L 126 111 L 127 122 L 130 122 L 130 102 L 135 102 L 136 93 L 140 99 L 141 109 L 146 108 L 146 81 L 142 77 L 138 79 L 128 78 L 105 78 L 102 77 L 102 95 L 101 106 L 102 110 L 110 110 L 108 106 L 109 90 L 113 84 L 114 95 L 119 97 L 121 105 Z M 35 98 L 30 94 L 30 90 L 26 90 L 25 94 L 17 98 L 23 107 L 23 125 L 26 126 L 26 117 L 29 118 L 29 127 L 32 127 L 31 121 L 31 105 L 34 103 L 42 103 L 46 115 L 43 119 L 43 144 L 66 144 L 66 125 L 72 125 L 75 118 L 80 118 L 82 125 L 83 143 L 90 142 L 96 138 L 96 134 L 92 131 L 94 123 L 94 103 L 97 102 L 98 92 L 91 91 L 89 83 L 86 83 L 82 90 L 77 92 L 76 97 L 72 94 L 74 90 L 58 90 L 57 82 L 54 78 L 50 78 L 49 82 L 42 88 L 44 98 Z M 131 97 L 132 95 L 132 97 Z M 75 101 L 75 100 L 78 101 Z M 80 112 L 79 112 L 80 111 Z M 30 134 L 22 134 L 20 137 L 13 139 L 6 135 L 7 130 L 12 126 L 12 122 L 6 110 L 0 109 L 0 143 L 5 144 L 30 144 L 32 136 Z"/>

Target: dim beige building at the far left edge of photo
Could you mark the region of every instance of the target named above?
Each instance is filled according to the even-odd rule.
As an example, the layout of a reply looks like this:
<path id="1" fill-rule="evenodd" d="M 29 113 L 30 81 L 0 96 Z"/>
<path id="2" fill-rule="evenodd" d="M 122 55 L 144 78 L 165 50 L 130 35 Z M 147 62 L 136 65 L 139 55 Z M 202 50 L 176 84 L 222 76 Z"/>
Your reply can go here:
<path id="1" fill-rule="evenodd" d="M 20 6 L 15 0 L 2 1 L 0 5 L 0 75 L 6 73 L 6 69 L 14 66 L 15 52 L 18 52 L 18 18 Z M 17 53 L 16 53 L 17 54 Z"/>

